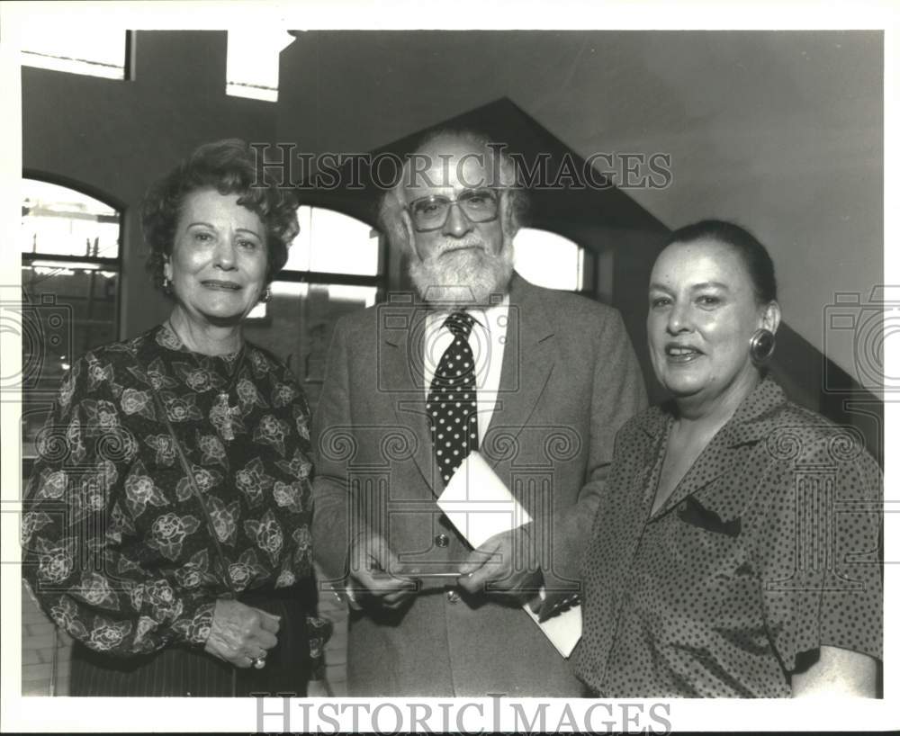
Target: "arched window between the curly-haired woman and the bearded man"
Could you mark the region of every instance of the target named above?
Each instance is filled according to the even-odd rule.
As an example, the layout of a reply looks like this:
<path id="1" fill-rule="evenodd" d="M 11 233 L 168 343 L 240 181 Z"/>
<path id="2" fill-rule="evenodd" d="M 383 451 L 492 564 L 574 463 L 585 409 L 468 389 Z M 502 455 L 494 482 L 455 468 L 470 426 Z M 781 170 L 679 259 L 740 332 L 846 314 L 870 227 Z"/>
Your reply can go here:
<path id="1" fill-rule="evenodd" d="M 291 367 L 315 405 L 335 322 L 387 287 L 384 249 L 377 230 L 341 212 L 304 205 L 297 214 L 300 234 L 272 299 L 250 312 L 245 334 Z"/>

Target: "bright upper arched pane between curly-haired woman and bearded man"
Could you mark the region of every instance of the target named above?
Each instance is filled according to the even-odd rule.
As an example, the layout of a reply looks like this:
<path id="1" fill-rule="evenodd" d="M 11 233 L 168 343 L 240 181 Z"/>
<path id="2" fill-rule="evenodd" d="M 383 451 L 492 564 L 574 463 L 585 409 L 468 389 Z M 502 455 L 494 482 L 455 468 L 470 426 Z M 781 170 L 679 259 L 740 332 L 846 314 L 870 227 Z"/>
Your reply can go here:
<path id="1" fill-rule="evenodd" d="M 288 251 L 289 271 L 378 275 L 378 233 L 345 214 L 303 206 L 297 212 L 300 235 Z"/>

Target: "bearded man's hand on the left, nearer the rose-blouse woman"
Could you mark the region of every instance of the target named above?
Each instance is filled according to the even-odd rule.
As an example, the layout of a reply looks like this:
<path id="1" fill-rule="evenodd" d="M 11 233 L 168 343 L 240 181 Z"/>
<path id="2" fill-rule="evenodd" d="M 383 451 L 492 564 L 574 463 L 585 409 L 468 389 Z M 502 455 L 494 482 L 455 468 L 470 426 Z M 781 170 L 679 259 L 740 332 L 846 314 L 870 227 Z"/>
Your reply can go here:
<path id="1" fill-rule="evenodd" d="M 364 606 L 400 608 L 416 591 L 413 579 L 397 576 L 400 563 L 381 534 L 365 531 L 350 544 L 351 600 Z"/>

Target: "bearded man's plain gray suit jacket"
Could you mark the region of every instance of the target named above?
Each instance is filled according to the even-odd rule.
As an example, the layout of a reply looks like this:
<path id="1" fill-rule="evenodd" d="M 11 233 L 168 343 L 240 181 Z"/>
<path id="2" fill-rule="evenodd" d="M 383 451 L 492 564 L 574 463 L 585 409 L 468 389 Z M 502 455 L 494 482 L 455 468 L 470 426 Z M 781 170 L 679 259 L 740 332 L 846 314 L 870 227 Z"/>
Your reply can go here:
<path id="1" fill-rule="evenodd" d="M 436 504 L 443 481 L 424 413 L 426 313 L 411 295 L 394 295 L 335 329 L 313 422 L 313 546 L 331 581 L 347 575 L 347 545 L 365 525 L 407 568 L 452 570 L 470 551 Z M 645 406 L 617 310 L 514 275 L 481 452 L 534 520 L 547 588 L 579 585 L 614 438 Z M 518 604 L 458 597 L 443 582 L 399 612 L 352 615 L 348 650 L 351 696 L 581 694 L 570 662 Z"/>

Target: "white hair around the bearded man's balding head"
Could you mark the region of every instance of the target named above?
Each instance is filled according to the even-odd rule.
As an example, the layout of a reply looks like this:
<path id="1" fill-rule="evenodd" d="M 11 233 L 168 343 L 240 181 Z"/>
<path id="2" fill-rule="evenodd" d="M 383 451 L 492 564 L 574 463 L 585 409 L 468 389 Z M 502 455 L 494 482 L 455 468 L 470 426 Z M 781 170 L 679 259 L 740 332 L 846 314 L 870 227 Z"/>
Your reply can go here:
<path id="1" fill-rule="evenodd" d="M 394 247 L 399 247 L 403 252 L 408 252 L 412 248 L 406 225 L 403 222 L 403 211 L 406 207 L 403 188 L 410 178 L 410 161 L 416 154 L 444 140 L 463 141 L 471 146 L 473 151 L 491 150 L 493 152 L 491 156 L 496 155 L 499 151 L 500 184 L 502 184 L 503 191 L 507 193 L 507 206 L 509 207 L 511 223 L 511 231 L 508 235 L 509 238 L 512 238 L 522 226 L 522 221 L 525 219 L 528 209 L 528 195 L 522 186 L 520 172 L 515 161 L 506 152 L 505 146 L 498 147 L 495 141 L 492 141 L 489 136 L 482 132 L 468 129 L 442 128 L 432 130 L 419 139 L 418 145 L 407 156 L 397 181 L 382 197 L 379 204 L 378 221 L 389 241 Z"/>

